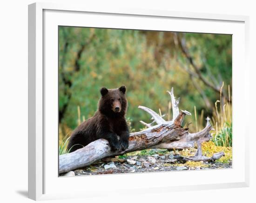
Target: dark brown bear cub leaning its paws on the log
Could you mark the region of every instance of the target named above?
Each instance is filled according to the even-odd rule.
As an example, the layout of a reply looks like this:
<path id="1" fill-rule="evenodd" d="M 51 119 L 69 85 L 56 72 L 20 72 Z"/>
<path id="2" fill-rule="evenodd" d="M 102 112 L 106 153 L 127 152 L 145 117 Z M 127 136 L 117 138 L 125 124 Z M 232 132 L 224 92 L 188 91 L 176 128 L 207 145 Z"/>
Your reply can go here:
<path id="1" fill-rule="evenodd" d="M 67 145 L 69 152 L 101 138 L 108 140 L 112 151 L 128 148 L 129 130 L 125 119 L 128 103 L 125 92 L 125 86 L 117 89 L 101 88 L 98 110 L 71 134 Z"/>

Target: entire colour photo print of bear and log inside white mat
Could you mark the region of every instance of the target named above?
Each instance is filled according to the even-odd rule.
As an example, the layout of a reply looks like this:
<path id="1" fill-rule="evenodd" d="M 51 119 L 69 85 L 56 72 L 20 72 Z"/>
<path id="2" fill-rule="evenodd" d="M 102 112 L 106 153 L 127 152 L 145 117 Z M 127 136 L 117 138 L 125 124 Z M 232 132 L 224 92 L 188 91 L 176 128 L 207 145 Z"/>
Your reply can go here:
<path id="1" fill-rule="evenodd" d="M 58 29 L 59 176 L 232 168 L 232 35 Z"/>

